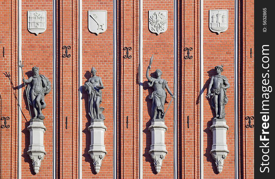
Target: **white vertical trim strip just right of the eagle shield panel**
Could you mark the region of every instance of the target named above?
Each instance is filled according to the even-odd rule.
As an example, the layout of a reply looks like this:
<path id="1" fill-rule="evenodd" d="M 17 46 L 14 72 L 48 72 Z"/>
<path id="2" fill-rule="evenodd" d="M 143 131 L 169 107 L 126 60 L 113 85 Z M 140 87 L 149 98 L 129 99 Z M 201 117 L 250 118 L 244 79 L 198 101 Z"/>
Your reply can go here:
<path id="1" fill-rule="evenodd" d="M 176 99 L 174 100 L 174 178 L 178 178 L 178 24 L 177 24 L 177 0 L 174 0 L 174 93 Z"/>

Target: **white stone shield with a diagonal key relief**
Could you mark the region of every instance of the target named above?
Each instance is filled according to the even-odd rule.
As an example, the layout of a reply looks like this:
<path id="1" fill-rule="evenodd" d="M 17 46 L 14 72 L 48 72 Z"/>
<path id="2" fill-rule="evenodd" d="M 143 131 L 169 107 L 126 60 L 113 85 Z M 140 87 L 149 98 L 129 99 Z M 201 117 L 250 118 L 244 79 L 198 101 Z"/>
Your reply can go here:
<path id="1" fill-rule="evenodd" d="M 98 35 L 107 29 L 107 11 L 89 10 L 88 11 L 88 29 L 91 33 Z"/>

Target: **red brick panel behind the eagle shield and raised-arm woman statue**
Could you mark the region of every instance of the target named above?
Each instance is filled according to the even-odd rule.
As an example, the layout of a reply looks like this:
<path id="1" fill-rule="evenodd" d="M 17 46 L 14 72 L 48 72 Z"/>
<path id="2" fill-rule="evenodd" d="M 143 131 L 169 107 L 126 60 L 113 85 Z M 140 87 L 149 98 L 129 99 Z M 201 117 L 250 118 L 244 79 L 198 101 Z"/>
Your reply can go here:
<path id="1" fill-rule="evenodd" d="M 167 25 L 168 28 L 164 33 L 156 35 L 151 33 L 148 29 L 148 11 L 149 10 L 168 10 Z M 152 94 L 153 88 L 148 86 L 148 80 L 146 78 L 146 70 L 149 65 L 150 57 L 154 54 L 152 69 L 149 71 L 149 76 L 156 78 L 155 70 L 162 70 L 162 79 L 168 82 L 168 86 L 172 92 L 174 92 L 174 55 L 173 55 L 173 1 L 149 1 L 143 0 L 143 149 L 142 149 L 142 162 L 143 162 L 143 178 L 173 178 L 173 108 L 171 103 L 167 114 L 165 115 L 165 125 L 168 127 L 165 132 L 165 145 L 168 153 L 165 159 L 162 161 L 161 172 L 156 174 L 153 159 L 149 154 L 151 145 L 151 132 L 148 130 L 151 125 L 151 108 L 152 100 L 149 99 L 149 95 Z M 168 103 L 171 100 L 170 94 L 167 92 L 167 98 L 165 101 L 165 110 L 168 107 Z"/>

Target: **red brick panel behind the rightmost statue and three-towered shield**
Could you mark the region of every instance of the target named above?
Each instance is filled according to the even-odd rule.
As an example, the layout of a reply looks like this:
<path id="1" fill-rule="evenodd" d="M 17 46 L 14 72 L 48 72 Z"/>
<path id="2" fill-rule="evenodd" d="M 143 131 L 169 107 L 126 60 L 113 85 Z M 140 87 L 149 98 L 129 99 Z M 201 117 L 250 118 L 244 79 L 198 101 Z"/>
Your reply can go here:
<path id="1" fill-rule="evenodd" d="M 209 30 L 209 10 L 224 9 L 228 10 L 228 29 L 217 35 Z M 222 75 L 225 75 L 230 84 L 227 89 L 226 95 L 228 103 L 225 105 L 225 119 L 226 124 L 229 126 L 227 131 L 227 145 L 229 154 L 227 155 L 222 173 L 217 172 L 216 163 L 213 160 L 210 151 L 212 148 L 212 132 L 209 129 L 212 125 L 213 109 L 211 102 L 208 98 L 204 98 L 204 118 L 203 118 L 203 131 L 204 131 L 204 149 L 203 149 L 203 170 L 204 178 L 235 178 L 235 136 L 234 136 L 234 1 L 222 1 L 213 3 L 212 1 L 204 1 L 204 94 L 207 95 L 210 79 L 216 75 L 214 67 L 216 65 L 224 65 Z"/>

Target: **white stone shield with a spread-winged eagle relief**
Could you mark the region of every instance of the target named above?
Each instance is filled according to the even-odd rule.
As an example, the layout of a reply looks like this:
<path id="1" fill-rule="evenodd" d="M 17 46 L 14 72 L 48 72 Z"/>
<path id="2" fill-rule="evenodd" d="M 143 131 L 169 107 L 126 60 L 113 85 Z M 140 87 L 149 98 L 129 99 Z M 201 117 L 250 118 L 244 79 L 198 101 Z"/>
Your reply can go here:
<path id="1" fill-rule="evenodd" d="M 148 26 L 152 33 L 159 35 L 167 30 L 167 10 L 149 10 Z"/>

